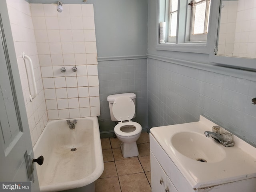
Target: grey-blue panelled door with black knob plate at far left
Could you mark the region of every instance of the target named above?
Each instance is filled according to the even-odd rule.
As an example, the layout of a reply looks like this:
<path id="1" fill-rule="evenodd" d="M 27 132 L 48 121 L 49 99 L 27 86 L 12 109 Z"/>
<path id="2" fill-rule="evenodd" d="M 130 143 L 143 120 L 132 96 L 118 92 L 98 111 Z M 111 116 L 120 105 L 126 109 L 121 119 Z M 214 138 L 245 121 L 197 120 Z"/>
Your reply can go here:
<path id="1" fill-rule="evenodd" d="M 0 182 L 31 181 L 31 191 L 39 192 L 36 167 L 33 168 L 31 159 L 34 154 L 11 34 L 4 0 L 0 3 Z M 2 185 L 0 191 L 1 189 Z"/>

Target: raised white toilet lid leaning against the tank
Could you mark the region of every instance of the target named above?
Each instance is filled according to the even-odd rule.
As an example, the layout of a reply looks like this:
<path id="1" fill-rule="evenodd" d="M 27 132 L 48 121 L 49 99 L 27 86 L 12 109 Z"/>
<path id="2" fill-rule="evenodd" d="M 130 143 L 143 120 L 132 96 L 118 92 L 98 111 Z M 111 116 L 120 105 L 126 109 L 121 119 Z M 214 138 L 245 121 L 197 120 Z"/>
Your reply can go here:
<path id="1" fill-rule="evenodd" d="M 121 96 L 113 103 L 112 112 L 118 121 L 132 119 L 135 114 L 135 105 L 131 98 Z"/>

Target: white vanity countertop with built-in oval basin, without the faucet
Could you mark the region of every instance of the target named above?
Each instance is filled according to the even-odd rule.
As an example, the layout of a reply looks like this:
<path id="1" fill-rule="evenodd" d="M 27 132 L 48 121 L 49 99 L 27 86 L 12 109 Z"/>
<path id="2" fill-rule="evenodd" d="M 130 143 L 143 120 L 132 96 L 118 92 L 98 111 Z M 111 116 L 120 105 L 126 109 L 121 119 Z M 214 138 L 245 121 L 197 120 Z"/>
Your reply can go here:
<path id="1" fill-rule="evenodd" d="M 233 135 L 234 146 L 225 147 L 204 131 L 213 122 L 200 121 L 150 129 L 192 188 L 214 186 L 256 177 L 256 148 Z M 227 132 L 222 128 L 221 133 Z M 207 162 L 201 162 L 207 161 Z"/>

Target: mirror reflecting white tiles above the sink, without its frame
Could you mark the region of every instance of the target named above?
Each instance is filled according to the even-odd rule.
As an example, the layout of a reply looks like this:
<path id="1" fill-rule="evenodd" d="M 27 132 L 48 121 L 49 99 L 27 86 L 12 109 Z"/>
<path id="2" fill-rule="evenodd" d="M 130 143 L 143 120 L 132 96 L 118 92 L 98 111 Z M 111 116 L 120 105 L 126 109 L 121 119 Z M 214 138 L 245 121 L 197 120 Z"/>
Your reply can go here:
<path id="1" fill-rule="evenodd" d="M 219 56 L 256 58 L 256 0 L 222 0 L 218 30 Z"/>

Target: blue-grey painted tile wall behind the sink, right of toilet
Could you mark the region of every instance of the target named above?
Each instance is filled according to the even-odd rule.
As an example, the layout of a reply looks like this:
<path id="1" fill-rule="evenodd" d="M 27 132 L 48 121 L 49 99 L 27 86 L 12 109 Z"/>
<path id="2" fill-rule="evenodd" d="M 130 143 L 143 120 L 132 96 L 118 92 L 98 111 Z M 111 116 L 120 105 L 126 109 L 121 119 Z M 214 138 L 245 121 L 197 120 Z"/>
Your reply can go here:
<path id="1" fill-rule="evenodd" d="M 149 127 L 203 114 L 256 146 L 256 82 L 148 58 Z"/>

